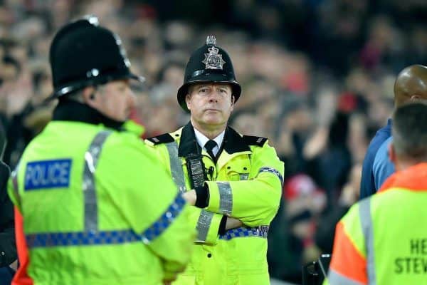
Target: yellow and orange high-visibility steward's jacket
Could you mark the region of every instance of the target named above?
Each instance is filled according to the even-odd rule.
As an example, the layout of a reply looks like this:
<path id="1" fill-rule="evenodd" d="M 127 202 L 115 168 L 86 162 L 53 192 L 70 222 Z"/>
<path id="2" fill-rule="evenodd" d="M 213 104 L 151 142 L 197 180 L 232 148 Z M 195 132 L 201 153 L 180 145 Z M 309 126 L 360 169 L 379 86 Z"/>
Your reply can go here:
<path id="1" fill-rule="evenodd" d="M 427 163 L 389 177 L 337 224 L 329 283 L 427 284 Z"/>

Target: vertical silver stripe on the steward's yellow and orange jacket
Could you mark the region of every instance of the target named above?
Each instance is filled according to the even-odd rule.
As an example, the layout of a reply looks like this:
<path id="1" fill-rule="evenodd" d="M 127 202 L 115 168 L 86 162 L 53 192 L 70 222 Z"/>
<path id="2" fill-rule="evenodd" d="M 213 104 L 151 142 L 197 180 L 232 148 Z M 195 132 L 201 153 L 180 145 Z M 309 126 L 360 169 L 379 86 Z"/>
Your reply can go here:
<path id="1" fill-rule="evenodd" d="M 367 247 L 367 271 L 369 285 L 376 285 L 374 229 L 372 229 L 371 198 L 359 202 L 359 217 Z"/>

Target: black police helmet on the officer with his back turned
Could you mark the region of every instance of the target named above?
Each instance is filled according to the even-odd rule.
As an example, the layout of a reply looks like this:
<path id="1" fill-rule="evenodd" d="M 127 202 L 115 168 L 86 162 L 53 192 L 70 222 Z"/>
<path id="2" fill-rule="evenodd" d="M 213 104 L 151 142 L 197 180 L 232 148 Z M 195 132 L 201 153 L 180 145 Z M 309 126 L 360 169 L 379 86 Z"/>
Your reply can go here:
<path id="1" fill-rule="evenodd" d="M 120 38 L 86 16 L 60 28 L 50 50 L 53 95 L 59 98 L 75 90 L 109 81 L 143 77 L 130 72 L 130 61 Z"/>

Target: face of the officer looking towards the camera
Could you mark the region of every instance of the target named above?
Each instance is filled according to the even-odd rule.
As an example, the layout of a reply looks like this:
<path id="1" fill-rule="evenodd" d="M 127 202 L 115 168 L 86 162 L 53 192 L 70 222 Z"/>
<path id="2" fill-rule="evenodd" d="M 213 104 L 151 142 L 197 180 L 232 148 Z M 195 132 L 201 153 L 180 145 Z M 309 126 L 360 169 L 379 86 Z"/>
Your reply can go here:
<path id="1" fill-rule="evenodd" d="M 202 129 L 226 125 L 233 100 L 228 83 L 196 83 L 185 98 L 191 121 Z"/>

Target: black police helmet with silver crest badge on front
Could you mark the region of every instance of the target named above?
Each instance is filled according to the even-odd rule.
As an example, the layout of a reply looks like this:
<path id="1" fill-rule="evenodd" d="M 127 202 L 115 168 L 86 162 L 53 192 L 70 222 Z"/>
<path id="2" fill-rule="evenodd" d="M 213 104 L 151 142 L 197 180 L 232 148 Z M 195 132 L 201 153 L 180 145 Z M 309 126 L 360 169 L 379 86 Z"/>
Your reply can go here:
<path id="1" fill-rule="evenodd" d="M 206 38 L 206 45 L 196 49 L 186 65 L 184 84 L 178 89 L 178 103 L 186 112 L 189 112 L 185 103 L 189 86 L 203 82 L 229 83 L 235 103 L 241 95 L 242 89 L 234 76 L 231 58 L 223 48 L 216 46 L 214 36 Z"/>

